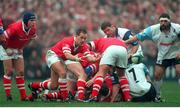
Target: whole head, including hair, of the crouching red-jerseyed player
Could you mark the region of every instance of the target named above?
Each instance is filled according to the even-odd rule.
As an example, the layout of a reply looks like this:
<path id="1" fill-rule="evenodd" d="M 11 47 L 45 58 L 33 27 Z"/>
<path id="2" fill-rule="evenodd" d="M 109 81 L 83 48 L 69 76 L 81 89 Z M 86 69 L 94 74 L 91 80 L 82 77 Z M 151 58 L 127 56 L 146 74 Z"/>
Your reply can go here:
<path id="1" fill-rule="evenodd" d="M 81 45 L 87 40 L 87 30 L 85 27 L 80 27 L 76 30 L 76 45 Z"/>

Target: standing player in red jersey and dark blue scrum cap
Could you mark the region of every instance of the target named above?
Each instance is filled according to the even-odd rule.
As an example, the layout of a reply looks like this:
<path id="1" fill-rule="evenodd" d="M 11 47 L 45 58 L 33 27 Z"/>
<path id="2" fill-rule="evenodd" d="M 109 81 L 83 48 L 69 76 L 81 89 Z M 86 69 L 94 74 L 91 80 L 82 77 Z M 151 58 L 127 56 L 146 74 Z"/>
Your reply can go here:
<path id="1" fill-rule="evenodd" d="M 16 71 L 16 84 L 20 92 L 21 101 L 26 100 L 24 80 L 24 58 L 23 49 L 28 43 L 36 38 L 36 15 L 33 12 L 26 12 L 22 21 L 11 24 L 1 33 L 0 60 L 4 65 L 3 85 L 7 101 L 12 100 L 11 82 L 13 71 Z"/>

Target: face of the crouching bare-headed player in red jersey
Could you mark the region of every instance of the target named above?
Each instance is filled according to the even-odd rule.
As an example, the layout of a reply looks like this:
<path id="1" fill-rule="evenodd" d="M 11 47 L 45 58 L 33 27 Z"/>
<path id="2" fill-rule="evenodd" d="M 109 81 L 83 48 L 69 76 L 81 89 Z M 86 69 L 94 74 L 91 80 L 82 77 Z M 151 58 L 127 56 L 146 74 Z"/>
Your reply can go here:
<path id="1" fill-rule="evenodd" d="M 87 40 L 87 34 L 80 33 L 78 36 L 76 36 L 76 44 L 82 45 Z"/>

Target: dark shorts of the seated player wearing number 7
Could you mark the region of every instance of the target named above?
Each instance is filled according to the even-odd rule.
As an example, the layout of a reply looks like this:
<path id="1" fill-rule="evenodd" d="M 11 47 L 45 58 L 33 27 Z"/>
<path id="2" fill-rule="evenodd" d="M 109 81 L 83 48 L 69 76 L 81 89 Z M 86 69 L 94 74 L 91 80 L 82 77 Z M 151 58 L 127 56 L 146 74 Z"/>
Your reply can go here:
<path id="1" fill-rule="evenodd" d="M 133 97 L 132 101 L 133 102 L 148 102 L 148 101 L 154 101 L 155 97 L 156 97 L 156 90 L 153 86 L 153 84 L 151 82 L 149 82 L 151 84 L 151 88 L 150 90 L 144 94 L 143 96 L 140 97 Z"/>

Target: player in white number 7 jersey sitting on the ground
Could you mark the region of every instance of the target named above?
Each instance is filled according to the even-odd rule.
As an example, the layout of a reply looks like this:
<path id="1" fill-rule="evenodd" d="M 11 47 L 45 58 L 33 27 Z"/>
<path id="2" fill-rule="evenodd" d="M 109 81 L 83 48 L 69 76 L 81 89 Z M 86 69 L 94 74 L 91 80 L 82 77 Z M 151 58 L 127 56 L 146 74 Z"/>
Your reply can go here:
<path id="1" fill-rule="evenodd" d="M 142 60 L 142 55 L 133 55 L 131 57 L 132 64 L 129 64 L 125 71 L 134 102 L 154 101 L 156 97 L 156 90 L 151 83 L 149 70 L 142 63 Z"/>

